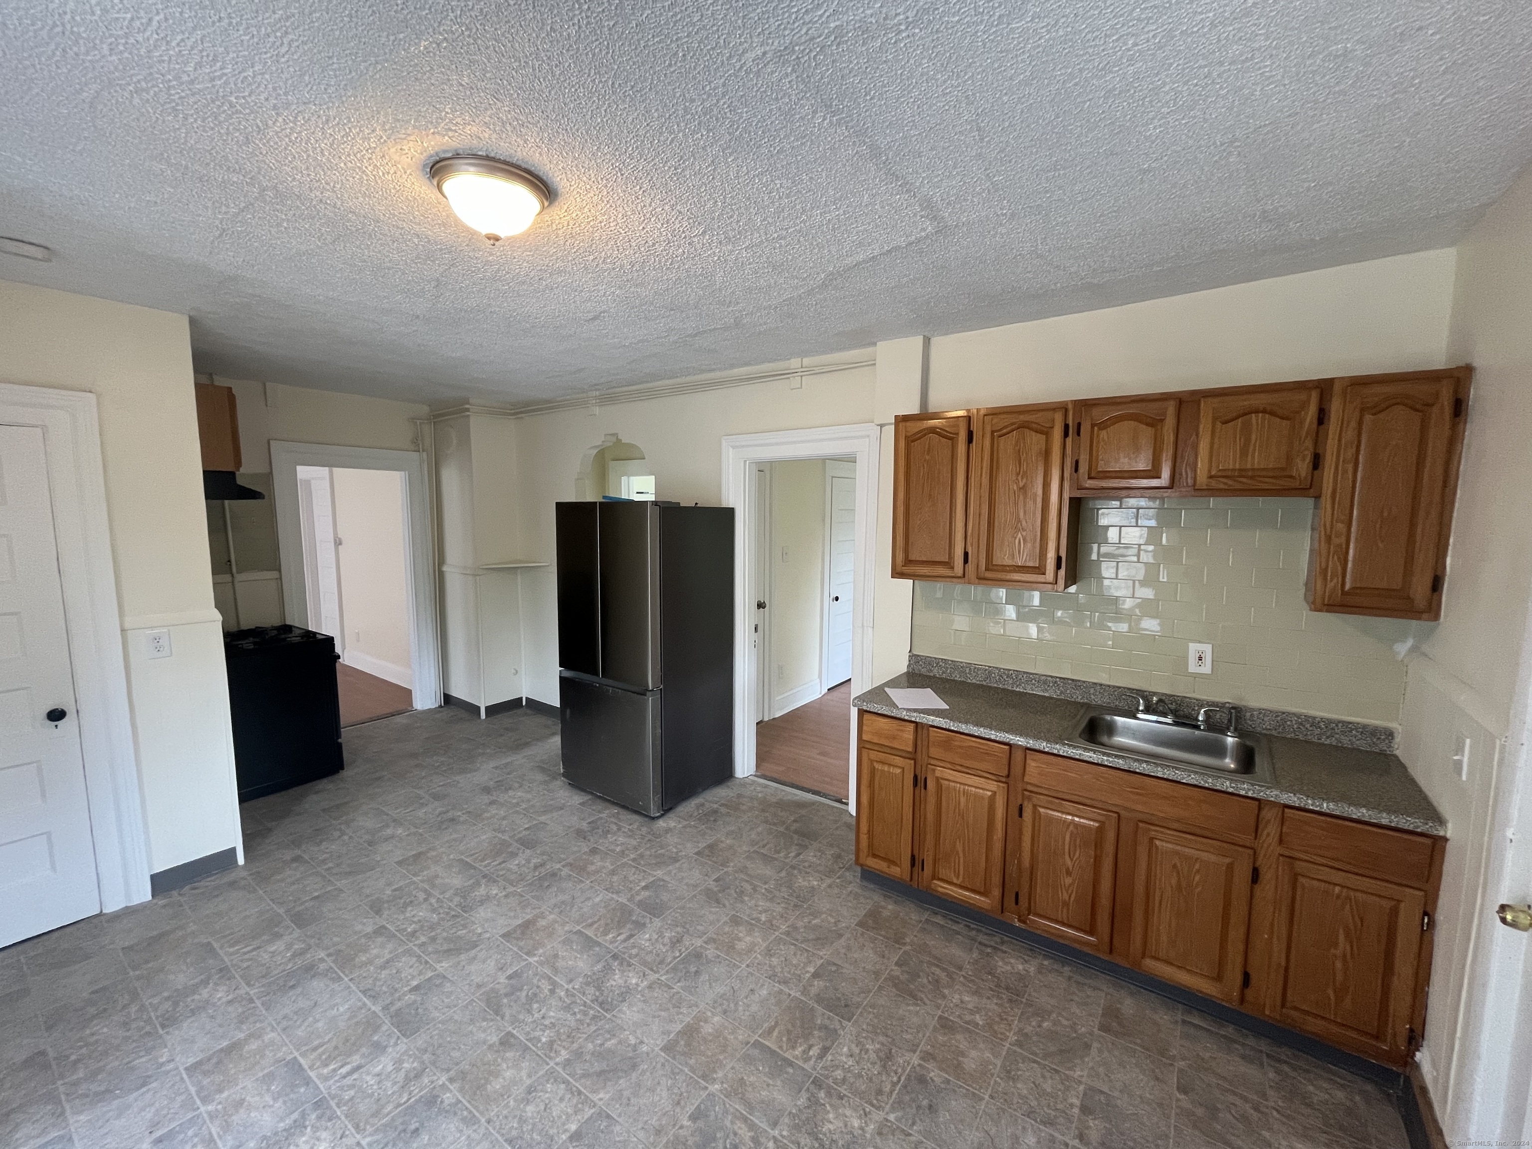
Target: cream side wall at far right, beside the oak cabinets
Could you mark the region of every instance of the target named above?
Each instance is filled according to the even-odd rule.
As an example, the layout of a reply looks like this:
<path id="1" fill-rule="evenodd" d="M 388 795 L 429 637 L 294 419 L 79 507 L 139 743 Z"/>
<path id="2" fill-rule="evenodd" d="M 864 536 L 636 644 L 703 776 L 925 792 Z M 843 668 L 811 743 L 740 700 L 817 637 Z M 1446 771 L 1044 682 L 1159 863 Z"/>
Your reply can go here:
<path id="1" fill-rule="evenodd" d="M 1481 999 L 1474 954 L 1498 930 L 1495 904 L 1526 896 L 1524 876 L 1515 889 L 1486 884 L 1486 858 L 1524 755 L 1506 735 L 1526 706 L 1514 692 L 1526 682 L 1532 608 L 1532 536 L 1515 525 L 1532 486 L 1532 175 L 1457 254 L 1449 358 L 1474 365 L 1474 391 L 1442 622 L 1409 660 L 1399 751 L 1449 824 L 1420 1057 L 1449 1143 L 1477 1135 L 1474 1094 L 1503 1069 L 1498 1052 L 1478 1060 L 1474 1019 L 1515 1013 Z"/>

